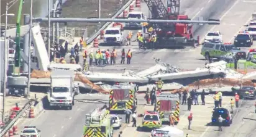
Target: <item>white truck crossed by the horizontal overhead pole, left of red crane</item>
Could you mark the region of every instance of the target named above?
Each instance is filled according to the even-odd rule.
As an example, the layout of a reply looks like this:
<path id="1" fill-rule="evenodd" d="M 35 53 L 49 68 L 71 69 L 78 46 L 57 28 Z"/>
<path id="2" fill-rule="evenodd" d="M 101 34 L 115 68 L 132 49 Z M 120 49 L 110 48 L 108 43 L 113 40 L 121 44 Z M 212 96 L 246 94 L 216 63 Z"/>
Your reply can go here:
<path id="1" fill-rule="evenodd" d="M 133 11 L 133 12 L 128 13 L 127 19 L 128 20 L 145 19 L 145 16 L 142 12 Z M 125 30 L 129 30 L 129 29 L 141 30 L 142 29 L 142 23 L 129 22 L 129 23 L 126 23 L 124 29 Z"/>

